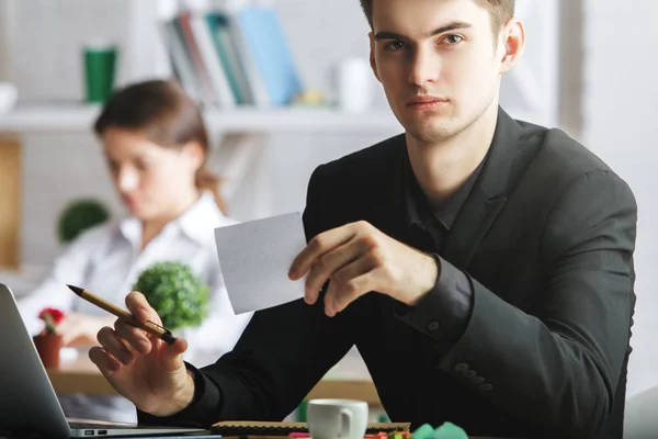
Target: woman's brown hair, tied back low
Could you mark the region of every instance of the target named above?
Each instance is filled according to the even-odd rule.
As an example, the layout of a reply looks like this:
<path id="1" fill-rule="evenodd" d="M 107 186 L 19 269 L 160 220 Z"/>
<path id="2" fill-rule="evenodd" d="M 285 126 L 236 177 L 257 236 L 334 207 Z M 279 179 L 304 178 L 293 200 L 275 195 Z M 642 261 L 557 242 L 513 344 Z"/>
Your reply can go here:
<path id="1" fill-rule="evenodd" d="M 150 142 L 167 148 L 181 148 L 195 142 L 205 157 L 209 149 L 198 105 L 173 80 L 137 82 L 112 93 L 93 131 L 102 137 L 110 127 L 143 130 Z M 196 171 L 196 187 L 212 191 L 217 206 L 226 212 L 219 193 L 222 179 L 206 168 L 205 157 Z"/>

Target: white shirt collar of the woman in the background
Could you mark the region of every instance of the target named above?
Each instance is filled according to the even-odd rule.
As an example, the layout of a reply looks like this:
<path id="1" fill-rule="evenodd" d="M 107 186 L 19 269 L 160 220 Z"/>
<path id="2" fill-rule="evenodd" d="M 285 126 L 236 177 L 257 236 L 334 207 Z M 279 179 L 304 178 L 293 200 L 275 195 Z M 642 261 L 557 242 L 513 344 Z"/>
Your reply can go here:
<path id="1" fill-rule="evenodd" d="M 222 213 L 215 203 L 213 194 L 206 191 L 181 216 L 167 224 L 160 234 L 178 232 L 200 246 L 207 246 L 208 243 L 214 241 L 213 234 L 215 227 L 235 223 L 234 219 L 228 218 Z M 127 240 L 134 245 L 140 245 L 141 221 L 129 216 L 120 222 L 118 229 Z"/>

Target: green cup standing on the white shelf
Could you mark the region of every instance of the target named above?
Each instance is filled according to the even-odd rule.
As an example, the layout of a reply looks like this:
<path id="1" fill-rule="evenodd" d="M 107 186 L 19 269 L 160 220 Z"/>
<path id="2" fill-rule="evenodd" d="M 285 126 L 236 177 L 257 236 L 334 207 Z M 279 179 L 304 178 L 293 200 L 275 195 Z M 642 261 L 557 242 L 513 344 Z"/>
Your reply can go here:
<path id="1" fill-rule="evenodd" d="M 118 49 L 110 42 L 94 41 L 84 45 L 83 54 L 87 102 L 103 103 L 114 88 Z"/>

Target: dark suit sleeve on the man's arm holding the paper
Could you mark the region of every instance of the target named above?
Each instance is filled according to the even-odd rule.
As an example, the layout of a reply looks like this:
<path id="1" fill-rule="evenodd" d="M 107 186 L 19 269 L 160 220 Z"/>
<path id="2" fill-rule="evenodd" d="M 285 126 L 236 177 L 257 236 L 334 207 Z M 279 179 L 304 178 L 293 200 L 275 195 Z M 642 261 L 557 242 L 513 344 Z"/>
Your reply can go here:
<path id="1" fill-rule="evenodd" d="M 629 188 L 612 172 L 572 181 L 543 230 L 535 315 L 470 279 L 470 318 L 439 369 L 522 421 L 569 437 L 598 430 L 628 347 L 636 219 Z"/>

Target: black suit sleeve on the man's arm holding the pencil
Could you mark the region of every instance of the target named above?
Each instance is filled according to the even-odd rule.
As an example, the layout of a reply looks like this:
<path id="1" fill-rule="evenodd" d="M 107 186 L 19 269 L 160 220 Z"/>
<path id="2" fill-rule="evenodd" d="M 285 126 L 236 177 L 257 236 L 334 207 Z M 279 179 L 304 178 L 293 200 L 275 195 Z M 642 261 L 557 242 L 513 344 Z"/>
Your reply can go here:
<path id="1" fill-rule="evenodd" d="M 304 226 L 307 239 L 322 232 L 322 188 L 318 168 L 310 178 Z M 292 263 L 292 261 L 291 261 Z M 231 352 L 195 370 L 192 404 L 177 415 L 155 417 L 138 412 L 140 423 L 201 425 L 218 420 L 282 420 L 353 345 L 352 312 L 334 318 L 322 301 L 309 306 L 297 300 L 259 311 Z"/>

